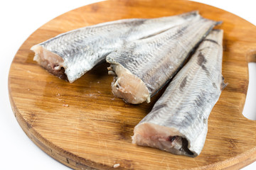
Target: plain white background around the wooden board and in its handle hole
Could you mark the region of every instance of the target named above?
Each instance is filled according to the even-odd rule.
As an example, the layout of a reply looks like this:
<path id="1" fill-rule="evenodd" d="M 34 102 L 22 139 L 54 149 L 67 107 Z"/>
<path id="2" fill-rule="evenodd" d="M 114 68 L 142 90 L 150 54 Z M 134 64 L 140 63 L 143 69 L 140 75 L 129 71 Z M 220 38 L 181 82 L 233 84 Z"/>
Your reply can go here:
<path id="1" fill-rule="evenodd" d="M 253 0 L 198 1 L 235 13 L 256 26 Z M 36 147 L 18 125 L 9 103 L 7 88 L 9 67 L 18 48 L 37 28 L 62 13 L 93 2 L 96 1 L 8 0 L 0 2 L 0 169 L 69 169 Z M 250 84 L 244 113 L 247 118 L 256 119 L 256 64 L 250 64 L 249 69 Z M 256 162 L 244 169 L 256 169 Z"/>

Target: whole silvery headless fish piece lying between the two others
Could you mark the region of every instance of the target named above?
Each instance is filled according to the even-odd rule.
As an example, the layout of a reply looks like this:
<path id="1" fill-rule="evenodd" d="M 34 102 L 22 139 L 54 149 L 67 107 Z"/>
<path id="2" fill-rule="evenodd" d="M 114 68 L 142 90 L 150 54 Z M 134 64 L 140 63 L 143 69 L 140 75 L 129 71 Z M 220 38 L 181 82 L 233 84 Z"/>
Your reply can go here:
<path id="1" fill-rule="evenodd" d="M 129 42 L 106 57 L 112 92 L 127 103 L 150 102 L 210 30 L 218 24 L 201 16 L 162 33 Z"/>

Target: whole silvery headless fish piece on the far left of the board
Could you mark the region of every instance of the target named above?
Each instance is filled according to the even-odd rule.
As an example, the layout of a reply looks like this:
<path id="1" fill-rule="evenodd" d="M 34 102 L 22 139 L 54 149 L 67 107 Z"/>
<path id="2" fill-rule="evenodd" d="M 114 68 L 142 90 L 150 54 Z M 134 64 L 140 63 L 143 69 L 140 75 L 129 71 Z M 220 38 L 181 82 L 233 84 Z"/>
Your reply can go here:
<path id="1" fill-rule="evenodd" d="M 31 47 L 33 60 L 70 83 L 80 78 L 124 43 L 161 33 L 198 17 L 197 11 L 152 19 L 124 19 L 60 34 Z"/>

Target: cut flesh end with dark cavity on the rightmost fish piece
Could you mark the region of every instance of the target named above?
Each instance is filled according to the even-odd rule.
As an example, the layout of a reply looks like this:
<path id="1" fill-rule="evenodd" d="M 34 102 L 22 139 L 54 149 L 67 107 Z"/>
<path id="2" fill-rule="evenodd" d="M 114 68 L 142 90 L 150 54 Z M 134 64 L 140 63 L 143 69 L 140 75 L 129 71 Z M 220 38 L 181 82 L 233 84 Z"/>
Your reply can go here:
<path id="1" fill-rule="evenodd" d="M 198 155 L 188 149 L 188 140 L 177 130 L 153 123 L 140 123 L 137 125 L 134 128 L 132 143 L 188 157 L 196 157 Z"/>

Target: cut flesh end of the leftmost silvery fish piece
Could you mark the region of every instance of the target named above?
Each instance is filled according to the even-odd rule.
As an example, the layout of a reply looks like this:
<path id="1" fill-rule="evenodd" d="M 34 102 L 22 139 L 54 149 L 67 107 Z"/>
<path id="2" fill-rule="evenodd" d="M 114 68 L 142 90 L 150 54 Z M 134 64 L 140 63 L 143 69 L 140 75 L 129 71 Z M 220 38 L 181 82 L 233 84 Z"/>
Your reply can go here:
<path id="1" fill-rule="evenodd" d="M 45 68 L 48 72 L 59 77 L 60 79 L 67 79 L 65 74 L 65 68 L 63 66 L 63 58 L 59 55 L 46 50 L 46 48 L 41 45 L 34 45 L 31 50 L 35 52 L 34 61 L 38 62 L 41 67 Z"/>

